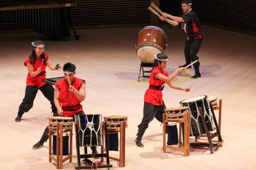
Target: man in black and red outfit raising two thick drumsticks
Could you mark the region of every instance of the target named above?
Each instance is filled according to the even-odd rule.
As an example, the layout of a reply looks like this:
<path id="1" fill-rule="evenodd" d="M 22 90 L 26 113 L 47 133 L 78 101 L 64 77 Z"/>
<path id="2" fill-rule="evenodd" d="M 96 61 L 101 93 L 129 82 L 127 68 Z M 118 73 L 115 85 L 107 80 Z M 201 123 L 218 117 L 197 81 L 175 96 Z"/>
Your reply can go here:
<path id="1" fill-rule="evenodd" d="M 191 0 L 182 0 L 181 6 L 183 14 L 181 14 L 180 17 L 175 17 L 167 13 L 162 13 L 162 16 L 159 17 L 162 21 L 166 21 L 173 26 L 181 26 L 182 29 L 184 29 L 185 33 L 187 33 L 188 37 L 186 39 L 184 48 L 186 64 L 179 67 L 186 67 L 191 62 L 199 60 L 199 57 L 196 55 L 203 41 L 197 14 L 195 11 L 192 10 L 191 5 Z M 195 79 L 201 77 L 201 74 L 199 72 L 199 65 L 199 61 L 193 64 L 195 68 L 195 75 L 191 78 Z M 188 68 L 191 68 L 191 66 Z"/>

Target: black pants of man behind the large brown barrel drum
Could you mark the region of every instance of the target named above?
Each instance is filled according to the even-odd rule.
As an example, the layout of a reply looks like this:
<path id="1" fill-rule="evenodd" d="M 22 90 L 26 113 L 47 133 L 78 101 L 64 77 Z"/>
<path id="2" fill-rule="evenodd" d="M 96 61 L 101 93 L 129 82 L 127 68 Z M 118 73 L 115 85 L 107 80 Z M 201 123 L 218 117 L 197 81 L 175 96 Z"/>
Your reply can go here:
<path id="1" fill-rule="evenodd" d="M 199 73 L 199 65 L 200 65 L 199 57 L 196 55 L 200 49 L 202 41 L 203 41 L 203 39 L 196 39 L 193 41 L 186 40 L 185 48 L 184 48 L 186 64 L 190 64 L 191 61 L 194 62 L 195 60 L 198 60 L 198 62 L 193 64 L 196 74 L 200 74 Z"/>

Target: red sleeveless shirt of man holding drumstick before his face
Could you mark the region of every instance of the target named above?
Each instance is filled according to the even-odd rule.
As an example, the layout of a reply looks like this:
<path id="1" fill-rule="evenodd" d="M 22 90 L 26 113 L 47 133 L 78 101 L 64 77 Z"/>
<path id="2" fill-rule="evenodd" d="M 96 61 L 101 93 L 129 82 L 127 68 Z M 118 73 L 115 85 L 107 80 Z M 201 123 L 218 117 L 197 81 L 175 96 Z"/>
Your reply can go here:
<path id="1" fill-rule="evenodd" d="M 79 78 L 74 77 L 74 80 L 72 82 L 72 86 L 75 87 L 76 90 L 79 91 L 79 89 L 85 84 L 85 82 Z M 55 87 L 57 87 L 60 90 L 60 98 L 59 102 L 62 103 L 63 107 L 75 107 L 79 105 L 82 101 L 79 100 L 76 95 L 69 91 L 69 84 L 65 78 L 60 79 L 58 82 L 54 83 Z M 63 116 L 70 117 L 72 115 L 75 115 L 76 113 L 83 111 L 83 107 L 79 108 L 75 111 L 65 111 L 63 109 Z"/>

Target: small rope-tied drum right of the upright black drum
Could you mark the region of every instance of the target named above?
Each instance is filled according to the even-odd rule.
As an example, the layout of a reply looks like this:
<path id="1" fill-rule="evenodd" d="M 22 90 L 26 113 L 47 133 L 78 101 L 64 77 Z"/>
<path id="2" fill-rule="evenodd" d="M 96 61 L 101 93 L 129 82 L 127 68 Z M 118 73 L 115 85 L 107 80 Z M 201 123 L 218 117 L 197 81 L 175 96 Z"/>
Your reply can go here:
<path id="1" fill-rule="evenodd" d="M 127 116 L 105 116 L 104 121 L 107 123 L 107 129 L 120 129 L 120 122 L 125 121 L 125 127 L 127 128 Z"/>

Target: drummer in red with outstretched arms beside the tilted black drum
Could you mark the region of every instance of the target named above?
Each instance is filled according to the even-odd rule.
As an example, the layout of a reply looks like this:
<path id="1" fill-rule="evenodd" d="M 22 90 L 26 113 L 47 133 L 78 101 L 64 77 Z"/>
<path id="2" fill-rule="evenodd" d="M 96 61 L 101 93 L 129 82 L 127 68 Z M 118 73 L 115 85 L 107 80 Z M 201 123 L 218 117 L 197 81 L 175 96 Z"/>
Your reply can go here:
<path id="1" fill-rule="evenodd" d="M 136 145 L 139 147 L 144 147 L 141 143 L 142 136 L 145 130 L 148 128 L 148 124 L 154 119 L 154 117 L 159 121 L 163 122 L 163 113 L 165 113 L 165 104 L 162 99 L 162 90 L 164 88 L 165 82 L 173 89 L 184 90 L 188 92 L 190 88 L 182 88 L 171 81 L 177 75 L 178 72 L 183 72 L 184 67 L 178 68 L 170 76 L 167 71 L 164 70 L 168 56 L 162 53 L 155 55 L 154 65 L 156 66 L 150 73 L 149 77 L 149 88 L 147 89 L 144 95 L 144 109 L 143 109 L 143 118 L 138 125 L 138 137 L 136 138 Z"/>

